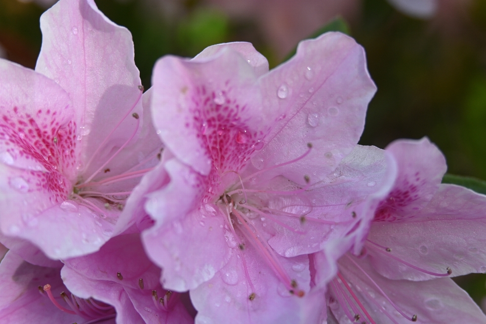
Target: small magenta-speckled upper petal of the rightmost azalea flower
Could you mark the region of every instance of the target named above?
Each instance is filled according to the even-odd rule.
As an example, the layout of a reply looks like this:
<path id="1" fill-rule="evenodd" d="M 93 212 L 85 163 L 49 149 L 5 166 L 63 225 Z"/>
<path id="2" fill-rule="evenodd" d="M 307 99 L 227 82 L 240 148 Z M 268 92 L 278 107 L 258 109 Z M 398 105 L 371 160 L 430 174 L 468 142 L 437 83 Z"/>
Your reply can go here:
<path id="1" fill-rule="evenodd" d="M 397 162 L 393 189 L 378 208 L 375 221 L 402 221 L 422 209 L 437 191 L 446 159 L 427 138 L 397 140 L 386 147 Z"/>

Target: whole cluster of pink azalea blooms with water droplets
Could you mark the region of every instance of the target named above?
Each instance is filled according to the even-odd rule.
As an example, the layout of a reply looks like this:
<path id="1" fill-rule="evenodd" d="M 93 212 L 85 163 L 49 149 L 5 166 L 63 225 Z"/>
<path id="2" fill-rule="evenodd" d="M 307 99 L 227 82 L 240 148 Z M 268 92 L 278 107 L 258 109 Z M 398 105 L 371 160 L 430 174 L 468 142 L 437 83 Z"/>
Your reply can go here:
<path id="1" fill-rule="evenodd" d="M 93 0 L 0 59 L 0 322 L 486 323 L 486 196 L 428 139 L 357 145 L 376 87 L 340 33 L 161 58 Z"/>

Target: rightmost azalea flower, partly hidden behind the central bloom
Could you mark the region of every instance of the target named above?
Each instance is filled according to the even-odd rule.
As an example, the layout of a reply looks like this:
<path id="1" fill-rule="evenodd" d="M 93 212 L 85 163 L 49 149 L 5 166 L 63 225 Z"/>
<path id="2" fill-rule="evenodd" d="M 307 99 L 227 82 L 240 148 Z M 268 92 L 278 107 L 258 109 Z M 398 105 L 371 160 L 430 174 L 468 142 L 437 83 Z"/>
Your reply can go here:
<path id="1" fill-rule="evenodd" d="M 363 227 L 361 254 L 346 253 L 336 268 L 336 256 L 353 244 L 348 237 L 315 255 L 332 313 L 339 323 L 486 323 L 448 278 L 486 271 L 486 196 L 441 184 L 446 160 L 428 139 L 395 141 L 386 151 L 397 176 Z"/>

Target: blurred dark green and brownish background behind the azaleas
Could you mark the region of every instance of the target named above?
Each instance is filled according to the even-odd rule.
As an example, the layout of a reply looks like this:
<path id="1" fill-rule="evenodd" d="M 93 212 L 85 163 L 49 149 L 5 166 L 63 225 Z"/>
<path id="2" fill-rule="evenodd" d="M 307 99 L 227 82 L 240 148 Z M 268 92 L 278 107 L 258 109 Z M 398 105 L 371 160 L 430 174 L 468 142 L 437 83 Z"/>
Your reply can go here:
<path id="1" fill-rule="evenodd" d="M 165 54 L 190 57 L 212 44 L 248 41 L 273 67 L 300 39 L 341 15 L 365 47 L 378 86 L 360 144 L 384 148 L 394 139 L 428 136 L 446 155 L 450 173 L 486 179 L 486 0 L 441 0 L 426 19 L 407 16 L 385 0 L 96 3 L 132 32 L 146 89 L 155 60 Z M 35 66 L 39 16 L 50 5 L 0 0 L 0 56 Z M 483 309 L 485 279 L 455 278 Z"/>

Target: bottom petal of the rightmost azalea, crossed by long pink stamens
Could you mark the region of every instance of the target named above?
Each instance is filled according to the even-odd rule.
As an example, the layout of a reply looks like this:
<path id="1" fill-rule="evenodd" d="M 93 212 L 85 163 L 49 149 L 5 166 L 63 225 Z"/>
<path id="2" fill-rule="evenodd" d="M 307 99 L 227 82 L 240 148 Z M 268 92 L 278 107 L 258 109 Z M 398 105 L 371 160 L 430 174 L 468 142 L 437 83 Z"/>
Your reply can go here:
<path id="1" fill-rule="evenodd" d="M 355 263 L 350 261 L 350 258 Z M 409 324 L 414 314 L 417 315 L 417 323 L 486 323 L 486 316 L 476 303 L 450 278 L 420 282 L 390 280 L 379 275 L 367 259 L 359 260 L 348 255 L 339 261 L 339 271 L 377 323 L 393 322 L 385 312 L 399 324 Z M 365 272 L 408 318 L 393 308 Z M 342 284 L 340 286 L 343 290 L 346 289 Z M 336 298 L 330 304 L 330 308 L 340 323 L 348 322 L 349 319 Z M 363 312 L 361 318 L 367 320 Z"/>

